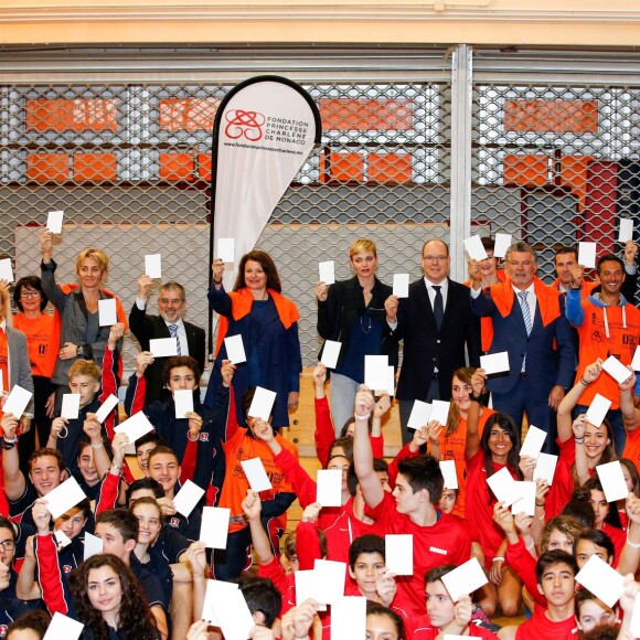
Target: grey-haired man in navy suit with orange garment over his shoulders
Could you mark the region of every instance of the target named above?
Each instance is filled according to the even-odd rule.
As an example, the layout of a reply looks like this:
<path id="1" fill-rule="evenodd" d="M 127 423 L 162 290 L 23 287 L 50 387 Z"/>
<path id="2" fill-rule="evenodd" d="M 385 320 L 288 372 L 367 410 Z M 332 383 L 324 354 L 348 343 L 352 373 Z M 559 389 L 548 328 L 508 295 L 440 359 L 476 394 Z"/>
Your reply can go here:
<path id="1" fill-rule="evenodd" d="M 491 318 L 493 339 L 489 353 L 506 351 L 510 371 L 487 383 L 493 408 L 509 414 L 521 426 L 524 412 L 530 425 L 550 434 L 552 413 L 573 384 L 575 350 L 564 316 L 564 296 L 535 276 L 537 257 L 531 245 L 513 244 L 504 257 L 504 282 L 481 290 L 479 268 L 471 265 L 471 308 Z"/>

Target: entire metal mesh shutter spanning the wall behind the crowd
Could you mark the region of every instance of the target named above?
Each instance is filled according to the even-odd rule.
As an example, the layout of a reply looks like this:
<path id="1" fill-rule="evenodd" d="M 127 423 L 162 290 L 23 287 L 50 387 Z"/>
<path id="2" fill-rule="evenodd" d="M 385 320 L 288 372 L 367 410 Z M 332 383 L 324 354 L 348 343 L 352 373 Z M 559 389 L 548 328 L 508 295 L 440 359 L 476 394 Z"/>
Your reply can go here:
<path id="1" fill-rule="evenodd" d="M 463 212 L 471 232 L 531 242 L 548 281 L 556 246 L 585 239 L 598 242 L 600 253 L 619 252 L 620 215 L 638 217 L 640 89 L 631 76 L 621 83 L 558 77 L 557 61 L 546 64 L 548 79 L 501 75 L 488 65 L 472 76 L 471 132 L 462 142 L 472 150 L 471 212 Z M 277 64 L 260 72 L 287 75 Z M 322 146 L 258 245 L 300 307 L 306 365 L 318 351 L 320 259 L 334 259 L 337 277 L 346 278 L 349 244 L 370 236 L 378 244 L 380 277 L 391 282 L 393 273 L 419 276 L 427 237 L 461 239 L 449 236 L 452 167 L 463 162 L 451 150 L 460 108 L 452 73 L 442 51 L 419 79 L 415 68 L 359 68 L 351 77 L 341 68 L 333 81 L 327 71 L 316 81 L 311 72 L 302 79 L 291 74 L 319 105 Z M 0 76 L 0 253 L 14 259 L 17 277 L 39 271 L 39 230 L 47 211 L 62 209 L 58 281 L 74 279 L 79 249 L 103 247 L 113 263 L 107 287 L 128 310 L 145 254 L 161 253 L 163 279 L 185 286 L 189 320 L 206 327 L 211 129 L 235 83 L 175 75 L 167 83 L 158 72 L 147 83 L 111 84 Z M 127 342 L 127 370 L 134 354 Z"/>

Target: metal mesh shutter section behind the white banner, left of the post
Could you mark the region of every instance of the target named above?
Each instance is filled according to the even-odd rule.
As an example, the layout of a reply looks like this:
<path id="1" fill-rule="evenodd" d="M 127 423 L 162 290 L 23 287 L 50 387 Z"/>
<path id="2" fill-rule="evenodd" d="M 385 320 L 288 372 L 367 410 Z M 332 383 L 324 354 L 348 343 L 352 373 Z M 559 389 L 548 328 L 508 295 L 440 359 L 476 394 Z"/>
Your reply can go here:
<path id="1" fill-rule="evenodd" d="M 15 275 L 39 271 L 38 235 L 64 210 L 55 246 L 60 282 L 77 252 L 105 248 L 107 287 L 128 310 L 145 254 L 161 253 L 163 279 L 186 287 L 190 321 L 207 324 L 210 145 L 230 86 L 192 84 L 0 87 L 0 250 Z M 420 225 L 447 239 L 450 90 L 440 84 L 309 84 L 323 120 L 314 153 L 258 245 L 300 307 L 306 364 L 316 358 L 317 262 L 366 234 L 380 243 L 381 277 L 415 271 Z M 402 247 L 402 249 L 398 249 Z M 154 300 L 150 300 L 150 309 Z M 125 366 L 136 345 L 126 342 Z"/>

